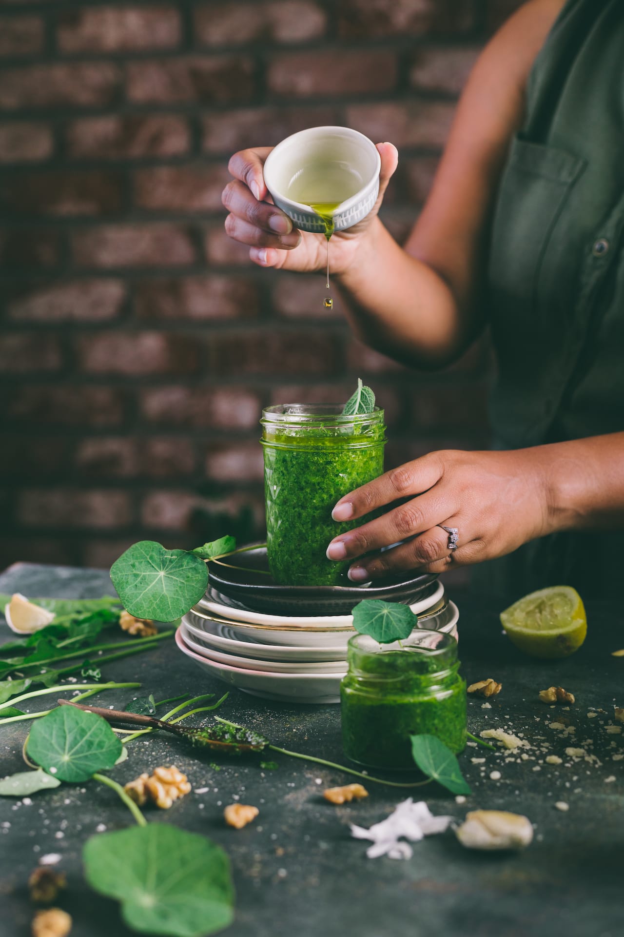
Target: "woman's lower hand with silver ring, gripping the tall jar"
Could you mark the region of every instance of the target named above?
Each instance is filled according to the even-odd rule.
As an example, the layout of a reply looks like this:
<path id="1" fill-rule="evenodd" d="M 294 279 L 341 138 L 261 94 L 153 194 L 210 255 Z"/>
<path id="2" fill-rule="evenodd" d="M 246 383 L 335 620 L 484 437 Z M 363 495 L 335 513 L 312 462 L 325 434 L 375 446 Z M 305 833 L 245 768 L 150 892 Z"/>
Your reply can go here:
<path id="1" fill-rule="evenodd" d="M 544 454 L 549 448 L 448 450 L 387 471 L 341 498 L 332 517 L 352 520 L 401 503 L 336 537 L 327 558 L 356 560 L 349 578 L 364 582 L 402 570 L 442 573 L 451 563 L 479 563 L 510 553 L 554 529 Z M 440 524 L 458 529 L 455 551 L 448 549 L 449 535 Z M 379 552 L 393 543 L 399 545 Z"/>

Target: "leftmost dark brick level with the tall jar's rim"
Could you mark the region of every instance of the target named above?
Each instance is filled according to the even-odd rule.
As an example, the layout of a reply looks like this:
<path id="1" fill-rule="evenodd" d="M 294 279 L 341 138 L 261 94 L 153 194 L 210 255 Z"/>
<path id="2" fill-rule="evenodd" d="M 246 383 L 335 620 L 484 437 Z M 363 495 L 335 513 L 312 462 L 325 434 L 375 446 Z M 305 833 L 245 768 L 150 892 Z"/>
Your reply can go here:
<path id="1" fill-rule="evenodd" d="M 112 387 L 36 385 L 11 388 L 6 402 L 9 419 L 28 424 L 114 426 L 123 421 L 125 397 Z"/>

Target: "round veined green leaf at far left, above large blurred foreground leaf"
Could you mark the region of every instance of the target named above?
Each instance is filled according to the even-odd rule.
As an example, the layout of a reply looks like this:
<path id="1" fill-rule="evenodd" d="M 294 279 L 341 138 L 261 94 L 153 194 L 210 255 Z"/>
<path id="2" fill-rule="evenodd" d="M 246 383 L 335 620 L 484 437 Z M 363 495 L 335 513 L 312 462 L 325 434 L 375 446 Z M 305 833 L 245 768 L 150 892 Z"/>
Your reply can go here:
<path id="1" fill-rule="evenodd" d="M 26 743 L 30 758 L 59 781 L 88 781 L 112 767 L 122 743 L 94 712 L 58 706 L 33 725 Z"/>

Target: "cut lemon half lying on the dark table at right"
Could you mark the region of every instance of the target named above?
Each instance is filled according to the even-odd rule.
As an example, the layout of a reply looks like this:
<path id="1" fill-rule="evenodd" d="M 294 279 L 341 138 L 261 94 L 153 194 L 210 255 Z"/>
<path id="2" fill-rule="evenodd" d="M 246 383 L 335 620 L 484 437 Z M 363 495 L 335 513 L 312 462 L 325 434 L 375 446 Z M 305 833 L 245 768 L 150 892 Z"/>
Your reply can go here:
<path id="1" fill-rule="evenodd" d="M 532 657 L 569 657 L 588 633 L 583 600 L 571 586 L 531 592 L 501 612 L 501 623 L 512 644 Z"/>

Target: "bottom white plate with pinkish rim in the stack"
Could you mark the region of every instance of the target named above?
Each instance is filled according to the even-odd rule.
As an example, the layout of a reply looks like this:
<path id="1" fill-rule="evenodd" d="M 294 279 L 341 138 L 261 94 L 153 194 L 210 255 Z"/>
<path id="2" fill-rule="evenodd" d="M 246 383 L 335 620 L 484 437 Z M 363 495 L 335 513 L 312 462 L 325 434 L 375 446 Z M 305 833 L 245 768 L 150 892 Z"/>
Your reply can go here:
<path id="1" fill-rule="evenodd" d="M 228 667 L 196 654 L 176 632 L 176 644 L 182 654 L 202 668 L 210 677 L 218 677 L 232 687 L 254 696 L 289 703 L 340 703 L 342 674 L 275 674 L 244 667 Z"/>

